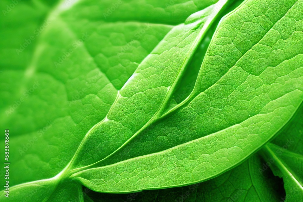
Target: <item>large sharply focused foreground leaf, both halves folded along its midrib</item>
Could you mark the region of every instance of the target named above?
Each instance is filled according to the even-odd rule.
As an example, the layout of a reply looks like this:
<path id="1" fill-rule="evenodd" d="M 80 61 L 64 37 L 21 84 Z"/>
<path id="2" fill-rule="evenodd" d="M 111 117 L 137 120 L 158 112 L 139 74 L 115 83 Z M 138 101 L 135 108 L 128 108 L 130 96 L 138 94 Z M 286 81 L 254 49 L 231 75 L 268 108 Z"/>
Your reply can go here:
<path id="1" fill-rule="evenodd" d="M 129 193 L 205 181 L 237 166 L 281 131 L 303 100 L 302 31 L 296 24 L 302 20 L 296 15 L 303 12 L 301 0 L 283 2 L 283 8 L 276 1 L 248 0 L 226 15 L 194 90 L 167 111 L 188 63 L 227 2 L 220 0 L 171 29 L 118 91 L 63 171 L 12 187 L 14 199 L 33 189 L 44 201 L 59 200 L 64 193 L 83 201 L 80 184 L 98 192 Z M 273 156 L 270 145 L 265 153 Z M 286 158 L 277 162 L 288 176 L 283 179 L 286 193 L 301 197 L 300 175 L 291 174 L 294 165 Z M 45 192 L 42 184 L 56 193 Z"/>

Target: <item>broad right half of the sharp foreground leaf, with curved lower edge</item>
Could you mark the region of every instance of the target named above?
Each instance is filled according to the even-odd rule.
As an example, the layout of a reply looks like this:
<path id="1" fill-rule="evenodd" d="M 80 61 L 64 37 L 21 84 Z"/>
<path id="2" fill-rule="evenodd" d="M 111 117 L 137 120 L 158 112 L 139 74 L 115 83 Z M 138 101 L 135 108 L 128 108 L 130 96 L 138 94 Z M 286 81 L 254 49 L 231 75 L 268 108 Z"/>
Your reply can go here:
<path id="1" fill-rule="evenodd" d="M 96 168 L 73 177 L 92 190 L 119 193 L 193 184 L 235 167 L 302 102 L 301 18 L 295 15 L 301 11 L 301 1 L 283 9 L 247 1 L 231 12 L 215 32 L 191 95 Z"/>

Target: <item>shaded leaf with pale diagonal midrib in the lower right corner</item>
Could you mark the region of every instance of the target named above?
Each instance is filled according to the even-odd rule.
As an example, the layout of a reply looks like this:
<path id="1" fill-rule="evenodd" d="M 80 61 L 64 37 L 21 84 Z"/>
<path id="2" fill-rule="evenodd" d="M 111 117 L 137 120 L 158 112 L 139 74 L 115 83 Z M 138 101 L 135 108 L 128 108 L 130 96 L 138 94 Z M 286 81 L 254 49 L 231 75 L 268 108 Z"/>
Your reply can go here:
<path id="1" fill-rule="evenodd" d="M 265 159 L 271 159 L 271 169 L 283 178 L 285 201 L 303 199 L 303 110 L 293 118 L 291 124 L 271 143 L 262 148 Z"/>

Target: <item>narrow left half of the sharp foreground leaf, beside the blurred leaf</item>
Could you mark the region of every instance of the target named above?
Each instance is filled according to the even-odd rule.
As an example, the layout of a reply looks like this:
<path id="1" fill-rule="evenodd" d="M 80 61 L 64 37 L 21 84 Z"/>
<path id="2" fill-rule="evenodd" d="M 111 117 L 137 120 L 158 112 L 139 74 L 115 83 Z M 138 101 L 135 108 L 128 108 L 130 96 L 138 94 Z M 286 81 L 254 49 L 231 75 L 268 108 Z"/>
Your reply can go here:
<path id="1" fill-rule="evenodd" d="M 86 134 L 72 168 L 107 158 L 160 118 L 193 50 L 225 3 L 219 1 L 192 14 L 164 37 L 118 92 L 105 119 Z"/>

